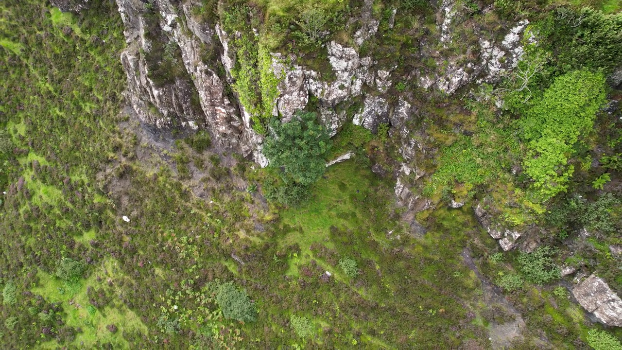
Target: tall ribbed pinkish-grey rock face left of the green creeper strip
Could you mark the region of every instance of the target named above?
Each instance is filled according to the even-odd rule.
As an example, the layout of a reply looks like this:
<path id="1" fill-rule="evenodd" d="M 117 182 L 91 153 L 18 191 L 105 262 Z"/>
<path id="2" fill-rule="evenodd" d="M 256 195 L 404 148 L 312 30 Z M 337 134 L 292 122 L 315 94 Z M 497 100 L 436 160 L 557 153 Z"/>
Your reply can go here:
<path id="1" fill-rule="evenodd" d="M 128 49 L 121 54 L 128 75 L 126 97 L 141 120 L 158 128 L 208 130 L 221 147 L 249 154 L 253 141 L 244 140 L 248 136 L 243 135 L 239 111 L 227 97 L 225 83 L 215 73 L 217 62 L 205 62 L 202 57 L 202 46 L 213 49 L 214 31 L 195 21 L 192 3 L 178 5 L 157 0 L 151 5 L 157 9 L 147 9 L 137 0 L 117 0 L 117 4 L 128 42 Z M 154 10 L 157 12 L 150 16 L 149 11 Z M 173 64 L 178 69 L 183 67 L 185 76 L 159 84 L 150 77 L 146 56 L 151 54 L 153 42 L 146 37 L 147 21 L 157 21 L 161 31 L 158 39 L 179 47 L 181 62 L 173 58 Z"/>

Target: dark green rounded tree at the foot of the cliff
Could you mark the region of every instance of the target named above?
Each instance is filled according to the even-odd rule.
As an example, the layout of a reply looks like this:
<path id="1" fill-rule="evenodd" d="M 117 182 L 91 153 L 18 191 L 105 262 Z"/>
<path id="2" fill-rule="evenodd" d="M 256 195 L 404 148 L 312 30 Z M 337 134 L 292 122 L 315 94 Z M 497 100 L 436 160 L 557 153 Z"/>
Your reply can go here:
<path id="1" fill-rule="evenodd" d="M 283 180 L 303 186 L 317 181 L 325 170 L 324 156 L 330 149 L 326 128 L 315 113 L 299 112 L 289 123 L 272 123 L 272 133 L 262 151 L 270 166 L 284 168 Z"/>

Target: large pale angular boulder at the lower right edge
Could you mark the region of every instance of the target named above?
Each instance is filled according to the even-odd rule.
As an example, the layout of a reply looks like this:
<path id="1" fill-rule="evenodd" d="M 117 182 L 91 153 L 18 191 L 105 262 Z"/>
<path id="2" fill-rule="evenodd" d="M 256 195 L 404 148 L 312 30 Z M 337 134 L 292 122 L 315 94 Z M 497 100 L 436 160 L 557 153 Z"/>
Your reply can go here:
<path id="1" fill-rule="evenodd" d="M 600 323 L 622 327 L 622 300 L 602 278 L 590 275 L 575 286 L 572 295 Z"/>

